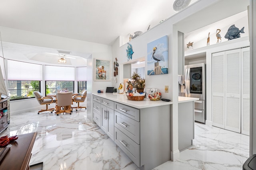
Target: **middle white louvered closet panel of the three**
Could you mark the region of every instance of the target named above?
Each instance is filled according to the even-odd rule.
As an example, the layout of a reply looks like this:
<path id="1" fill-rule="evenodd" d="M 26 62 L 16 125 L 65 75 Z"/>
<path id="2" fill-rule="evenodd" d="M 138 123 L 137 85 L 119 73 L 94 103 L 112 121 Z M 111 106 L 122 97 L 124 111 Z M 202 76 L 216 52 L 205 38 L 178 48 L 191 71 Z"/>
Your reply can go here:
<path id="1" fill-rule="evenodd" d="M 225 129 L 241 133 L 241 49 L 225 52 Z"/>

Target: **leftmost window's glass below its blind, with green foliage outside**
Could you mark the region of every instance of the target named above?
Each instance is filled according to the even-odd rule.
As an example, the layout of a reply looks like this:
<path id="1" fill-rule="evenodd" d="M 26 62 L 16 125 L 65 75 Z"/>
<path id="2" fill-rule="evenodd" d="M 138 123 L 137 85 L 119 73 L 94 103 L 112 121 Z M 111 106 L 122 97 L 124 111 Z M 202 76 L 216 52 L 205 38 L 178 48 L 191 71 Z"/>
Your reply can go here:
<path id="1" fill-rule="evenodd" d="M 10 100 L 35 97 L 33 92 L 40 92 L 40 81 L 8 80 Z"/>

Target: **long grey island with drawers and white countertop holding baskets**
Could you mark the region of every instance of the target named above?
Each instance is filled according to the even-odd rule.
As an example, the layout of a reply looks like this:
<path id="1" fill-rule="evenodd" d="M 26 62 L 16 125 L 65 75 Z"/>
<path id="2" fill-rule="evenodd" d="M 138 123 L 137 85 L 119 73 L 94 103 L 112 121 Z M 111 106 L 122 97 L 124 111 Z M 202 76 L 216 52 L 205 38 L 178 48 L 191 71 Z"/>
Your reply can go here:
<path id="1" fill-rule="evenodd" d="M 92 94 L 93 120 L 141 170 L 170 160 L 172 102 Z"/>

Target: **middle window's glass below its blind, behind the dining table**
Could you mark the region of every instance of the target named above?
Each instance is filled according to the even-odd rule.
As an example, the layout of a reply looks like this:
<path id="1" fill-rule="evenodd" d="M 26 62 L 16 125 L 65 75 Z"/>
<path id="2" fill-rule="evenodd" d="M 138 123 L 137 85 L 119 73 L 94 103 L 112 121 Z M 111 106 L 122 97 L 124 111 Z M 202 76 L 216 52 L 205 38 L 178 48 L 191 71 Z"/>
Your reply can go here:
<path id="1" fill-rule="evenodd" d="M 68 90 L 74 93 L 74 81 L 45 81 L 46 95 Z"/>

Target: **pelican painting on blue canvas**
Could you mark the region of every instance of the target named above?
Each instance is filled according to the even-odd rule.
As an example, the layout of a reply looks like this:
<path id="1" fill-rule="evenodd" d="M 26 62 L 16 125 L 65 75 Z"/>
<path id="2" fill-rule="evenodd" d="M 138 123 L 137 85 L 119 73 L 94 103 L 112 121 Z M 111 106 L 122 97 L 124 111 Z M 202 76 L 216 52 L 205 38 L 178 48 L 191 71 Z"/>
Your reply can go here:
<path id="1" fill-rule="evenodd" d="M 148 75 L 168 74 L 168 36 L 148 43 Z"/>

